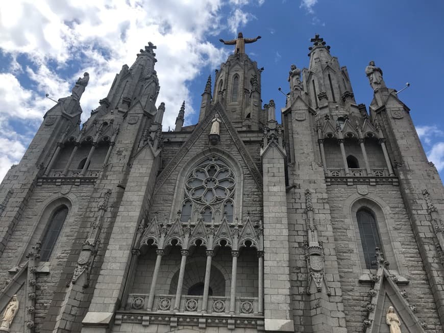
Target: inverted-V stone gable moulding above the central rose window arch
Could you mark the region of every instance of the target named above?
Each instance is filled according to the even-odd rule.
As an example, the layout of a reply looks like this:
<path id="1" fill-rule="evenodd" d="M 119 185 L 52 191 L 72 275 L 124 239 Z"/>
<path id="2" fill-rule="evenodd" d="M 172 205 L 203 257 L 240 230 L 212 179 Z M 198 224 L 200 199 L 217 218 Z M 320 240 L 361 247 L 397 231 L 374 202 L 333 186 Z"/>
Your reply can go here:
<path id="1" fill-rule="evenodd" d="M 224 107 L 221 106 L 220 103 L 216 103 L 214 106 L 212 106 L 210 112 L 205 116 L 205 118 L 198 123 L 193 133 L 190 135 L 188 140 L 184 142 L 174 158 L 172 158 L 168 165 L 159 174 L 155 186 L 156 192 L 162 187 L 163 183 L 167 180 L 170 174 L 179 166 L 183 158 L 188 154 L 188 151 L 191 149 L 191 147 L 194 146 L 195 142 L 198 141 L 199 138 L 203 135 L 203 132 L 207 129 L 208 125 L 210 124 L 216 113 L 219 114 L 219 119 L 221 120 L 221 123 L 226 126 L 229 136 L 231 137 L 234 145 L 242 156 L 246 167 L 248 167 L 249 171 L 251 172 L 256 184 L 258 185 L 259 190 L 262 191 L 262 174 L 251 158 L 250 154 L 246 150 L 242 139 L 239 137 L 236 129 L 228 118 Z"/>

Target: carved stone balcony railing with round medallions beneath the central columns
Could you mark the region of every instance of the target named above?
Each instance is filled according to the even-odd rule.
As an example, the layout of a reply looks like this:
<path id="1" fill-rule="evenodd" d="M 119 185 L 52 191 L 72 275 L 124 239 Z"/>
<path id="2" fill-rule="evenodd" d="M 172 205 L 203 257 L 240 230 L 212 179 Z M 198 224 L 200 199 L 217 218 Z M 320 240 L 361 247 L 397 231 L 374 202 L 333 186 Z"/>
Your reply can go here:
<path id="1" fill-rule="evenodd" d="M 130 294 L 125 310 L 146 310 L 149 294 Z M 155 295 L 152 312 L 173 312 L 176 295 Z M 206 313 L 210 315 L 228 315 L 229 296 L 208 296 Z M 236 297 L 235 315 L 254 315 L 258 313 L 257 297 Z M 182 295 L 179 305 L 180 313 L 201 313 L 202 296 Z"/>

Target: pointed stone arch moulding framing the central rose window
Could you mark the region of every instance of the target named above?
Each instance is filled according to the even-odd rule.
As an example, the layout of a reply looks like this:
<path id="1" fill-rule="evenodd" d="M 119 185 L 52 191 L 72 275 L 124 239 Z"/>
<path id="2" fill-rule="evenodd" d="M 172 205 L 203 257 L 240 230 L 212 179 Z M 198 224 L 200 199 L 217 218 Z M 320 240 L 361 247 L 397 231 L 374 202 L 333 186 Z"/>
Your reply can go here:
<path id="1" fill-rule="evenodd" d="M 174 196 L 172 199 L 172 207 L 170 211 L 169 219 L 170 221 L 176 218 L 177 211 L 182 209 L 184 202 L 184 188 L 185 181 L 188 174 L 191 172 L 193 168 L 204 162 L 206 159 L 215 156 L 220 158 L 221 161 L 224 161 L 227 165 L 230 166 L 234 177 L 235 177 L 235 195 L 232 199 L 234 204 L 234 212 L 233 216 L 240 217 L 242 216 L 242 193 L 243 193 L 243 171 L 239 162 L 231 156 L 230 153 L 220 150 L 218 148 L 211 147 L 209 149 L 205 149 L 195 156 L 191 157 L 180 170 L 177 181 L 176 181 L 176 190 L 174 191 Z M 234 218 L 233 218 L 234 219 Z"/>

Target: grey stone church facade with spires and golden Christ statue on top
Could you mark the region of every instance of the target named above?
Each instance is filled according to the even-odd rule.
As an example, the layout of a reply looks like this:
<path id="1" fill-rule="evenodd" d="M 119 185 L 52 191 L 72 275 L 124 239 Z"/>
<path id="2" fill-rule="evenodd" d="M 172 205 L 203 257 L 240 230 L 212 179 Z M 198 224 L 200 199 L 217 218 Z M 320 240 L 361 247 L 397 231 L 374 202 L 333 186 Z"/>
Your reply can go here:
<path id="1" fill-rule="evenodd" d="M 316 35 L 282 123 L 234 54 L 162 130 L 156 46 L 80 126 L 84 74 L 0 186 L 0 332 L 442 332 L 444 188 L 382 70 Z M 366 80 L 362 78 L 362 80 Z M 371 90 L 369 90 L 370 92 Z"/>

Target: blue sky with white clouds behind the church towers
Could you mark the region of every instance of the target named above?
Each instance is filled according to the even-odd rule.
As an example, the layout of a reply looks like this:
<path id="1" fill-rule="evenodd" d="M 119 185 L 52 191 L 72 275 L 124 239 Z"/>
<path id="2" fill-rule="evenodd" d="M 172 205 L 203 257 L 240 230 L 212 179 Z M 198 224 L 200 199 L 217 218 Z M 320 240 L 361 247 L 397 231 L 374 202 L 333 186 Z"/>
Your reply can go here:
<path id="1" fill-rule="evenodd" d="M 45 111 L 70 94 L 84 71 L 85 121 L 106 96 L 123 64 L 131 65 L 148 41 L 157 45 L 158 103 L 164 129 L 174 126 L 182 101 L 186 124 L 195 123 L 208 75 L 232 46 L 218 40 L 261 35 L 246 53 L 265 67 L 262 99 L 277 110 L 288 89 L 290 64 L 308 66 L 310 38 L 320 34 L 347 66 L 355 98 L 373 93 L 364 74 L 369 60 L 388 87 L 410 88 L 400 98 L 412 110 L 427 155 L 444 175 L 444 2 L 430 0 L 14 0 L 0 4 L 0 180 L 18 163 Z"/>

